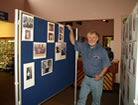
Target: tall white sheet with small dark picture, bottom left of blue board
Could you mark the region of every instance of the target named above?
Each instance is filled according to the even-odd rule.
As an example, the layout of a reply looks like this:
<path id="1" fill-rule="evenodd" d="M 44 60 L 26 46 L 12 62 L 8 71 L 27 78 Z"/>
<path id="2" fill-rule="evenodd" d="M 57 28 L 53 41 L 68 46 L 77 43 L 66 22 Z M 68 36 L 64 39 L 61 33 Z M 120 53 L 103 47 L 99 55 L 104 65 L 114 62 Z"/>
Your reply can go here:
<path id="1" fill-rule="evenodd" d="M 34 62 L 24 64 L 24 89 L 35 85 Z"/>

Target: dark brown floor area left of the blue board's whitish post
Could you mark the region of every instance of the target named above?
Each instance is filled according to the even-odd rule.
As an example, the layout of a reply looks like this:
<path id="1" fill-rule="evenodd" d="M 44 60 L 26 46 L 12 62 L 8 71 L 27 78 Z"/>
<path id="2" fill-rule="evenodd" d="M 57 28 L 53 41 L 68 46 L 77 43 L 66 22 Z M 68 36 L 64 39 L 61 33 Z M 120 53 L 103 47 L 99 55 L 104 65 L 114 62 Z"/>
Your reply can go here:
<path id="1" fill-rule="evenodd" d="M 0 71 L 0 105 L 15 105 L 14 76 Z"/>

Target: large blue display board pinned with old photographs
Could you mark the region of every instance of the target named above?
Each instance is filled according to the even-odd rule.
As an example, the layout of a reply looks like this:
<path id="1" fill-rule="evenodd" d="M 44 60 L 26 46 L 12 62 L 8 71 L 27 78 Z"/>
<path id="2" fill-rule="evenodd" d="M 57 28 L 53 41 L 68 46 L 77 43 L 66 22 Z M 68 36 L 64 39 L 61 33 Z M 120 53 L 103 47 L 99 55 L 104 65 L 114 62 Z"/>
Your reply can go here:
<path id="1" fill-rule="evenodd" d="M 22 105 L 38 105 L 75 81 L 75 50 L 66 26 L 21 12 L 20 38 Z"/>

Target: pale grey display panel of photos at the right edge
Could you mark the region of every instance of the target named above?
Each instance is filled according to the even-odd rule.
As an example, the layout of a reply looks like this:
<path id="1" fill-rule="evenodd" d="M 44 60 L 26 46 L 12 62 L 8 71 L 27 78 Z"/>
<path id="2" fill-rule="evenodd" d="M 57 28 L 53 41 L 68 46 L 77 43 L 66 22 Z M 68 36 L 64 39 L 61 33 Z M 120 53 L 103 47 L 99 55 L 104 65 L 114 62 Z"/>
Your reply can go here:
<path id="1" fill-rule="evenodd" d="M 138 100 L 138 4 L 122 25 L 120 104 L 137 105 Z"/>

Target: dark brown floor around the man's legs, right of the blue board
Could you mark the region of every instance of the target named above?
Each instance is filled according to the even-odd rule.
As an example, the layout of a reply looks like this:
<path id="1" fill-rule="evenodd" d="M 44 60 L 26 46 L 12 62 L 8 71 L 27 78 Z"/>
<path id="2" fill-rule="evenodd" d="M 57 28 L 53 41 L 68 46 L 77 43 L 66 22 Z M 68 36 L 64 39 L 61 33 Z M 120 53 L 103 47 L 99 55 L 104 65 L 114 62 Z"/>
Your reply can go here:
<path id="1" fill-rule="evenodd" d="M 77 89 L 77 99 L 79 95 L 79 88 Z M 74 105 L 74 88 L 68 87 L 51 99 L 45 101 L 41 105 Z M 91 105 L 92 96 L 89 94 L 86 105 Z M 119 105 L 119 85 L 115 84 L 113 91 L 103 91 L 101 98 L 101 105 Z"/>

